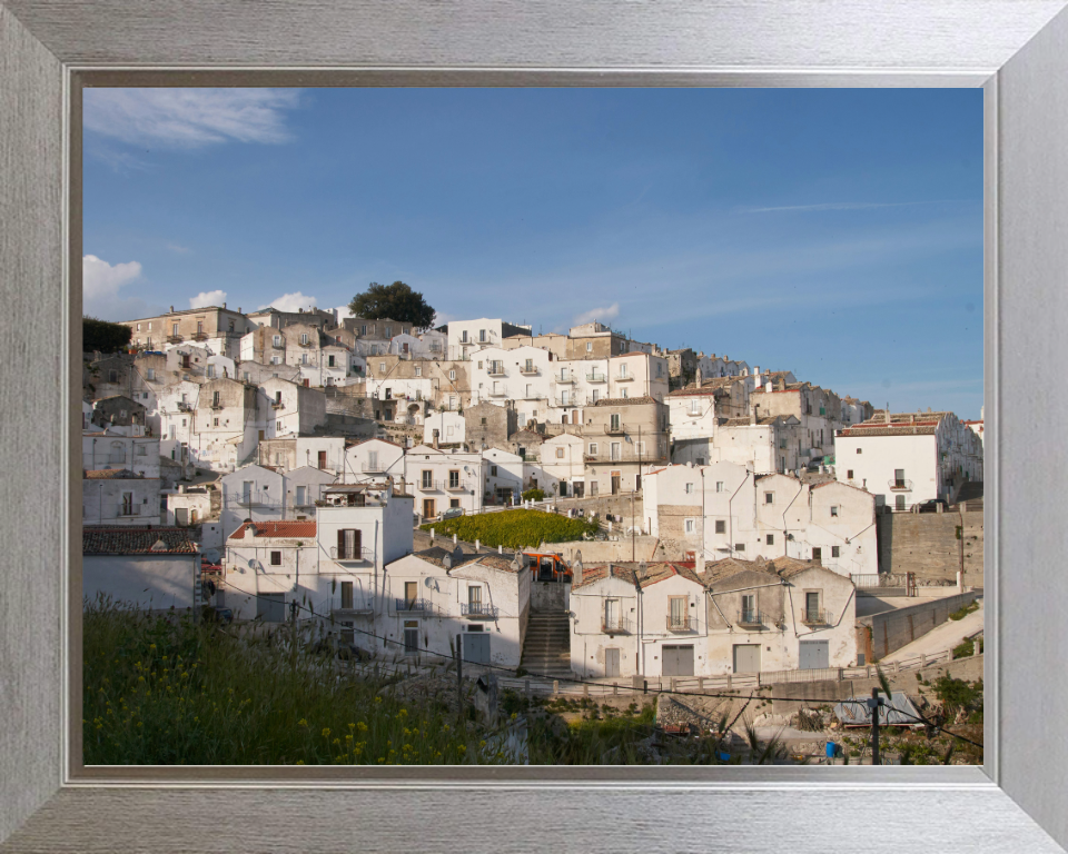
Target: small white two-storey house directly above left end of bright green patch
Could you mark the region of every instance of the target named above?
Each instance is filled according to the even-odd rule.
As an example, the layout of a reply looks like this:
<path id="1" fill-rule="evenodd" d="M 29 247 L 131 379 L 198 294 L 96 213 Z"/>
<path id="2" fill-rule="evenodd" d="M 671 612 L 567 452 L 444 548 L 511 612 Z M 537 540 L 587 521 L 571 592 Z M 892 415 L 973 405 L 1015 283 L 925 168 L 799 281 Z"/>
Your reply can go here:
<path id="1" fill-rule="evenodd" d="M 481 454 L 436 450 L 418 445 L 404 456 L 404 478 L 415 496 L 415 512 L 424 518 L 451 507 L 481 510 L 486 464 Z"/>

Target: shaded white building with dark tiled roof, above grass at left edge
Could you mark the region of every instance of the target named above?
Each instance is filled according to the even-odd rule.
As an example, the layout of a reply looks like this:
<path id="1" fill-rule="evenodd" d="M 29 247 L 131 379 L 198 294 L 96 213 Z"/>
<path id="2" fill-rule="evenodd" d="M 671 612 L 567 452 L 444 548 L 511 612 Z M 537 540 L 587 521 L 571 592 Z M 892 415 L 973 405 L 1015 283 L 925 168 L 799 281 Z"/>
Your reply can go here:
<path id="1" fill-rule="evenodd" d="M 92 527 L 81 532 L 81 593 L 90 602 L 167 610 L 190 608 L 200 549 L 184 528 Z"/>

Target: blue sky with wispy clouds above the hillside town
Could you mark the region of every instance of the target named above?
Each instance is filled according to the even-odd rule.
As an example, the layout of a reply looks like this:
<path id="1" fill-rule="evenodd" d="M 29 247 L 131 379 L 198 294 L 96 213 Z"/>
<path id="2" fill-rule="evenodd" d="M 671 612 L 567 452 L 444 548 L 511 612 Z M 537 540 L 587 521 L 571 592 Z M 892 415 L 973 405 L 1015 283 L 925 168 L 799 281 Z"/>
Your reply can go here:
<path id="1" fill-rule="evenodd" d="M 979 90 L 89 89 L 85 150 L 99 317 L 400 279 L 979 417 Z"/>

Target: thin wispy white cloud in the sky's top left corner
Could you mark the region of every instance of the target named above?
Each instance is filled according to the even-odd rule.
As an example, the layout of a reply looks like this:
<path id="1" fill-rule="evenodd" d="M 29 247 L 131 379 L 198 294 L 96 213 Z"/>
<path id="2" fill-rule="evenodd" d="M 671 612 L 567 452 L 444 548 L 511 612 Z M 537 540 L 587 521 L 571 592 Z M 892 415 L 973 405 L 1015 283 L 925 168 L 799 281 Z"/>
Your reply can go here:
<path id="1" fill-rule="evenodd" d="M 298 89 L 87 89 L 87 130 L 130 145 L 200 148 L 219 142 L 280 143 Z"/>

